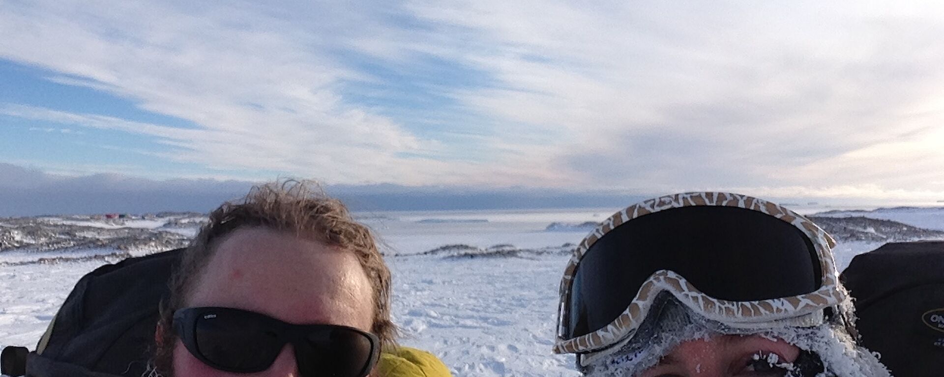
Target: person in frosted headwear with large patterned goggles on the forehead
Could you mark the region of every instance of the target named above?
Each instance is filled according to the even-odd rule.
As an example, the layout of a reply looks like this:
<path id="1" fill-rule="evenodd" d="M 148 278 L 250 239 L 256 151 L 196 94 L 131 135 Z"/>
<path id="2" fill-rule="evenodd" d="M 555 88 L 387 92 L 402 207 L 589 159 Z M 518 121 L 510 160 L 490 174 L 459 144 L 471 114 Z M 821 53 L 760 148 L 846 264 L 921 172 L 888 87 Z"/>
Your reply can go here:
<path id="1" fill-rule="evenodd" d="M 833 247 L 812 221 L 750 196 L 631 205 L 568 262 L 554 352 L 595 377 L 888 376 L 855 344 Z"/>

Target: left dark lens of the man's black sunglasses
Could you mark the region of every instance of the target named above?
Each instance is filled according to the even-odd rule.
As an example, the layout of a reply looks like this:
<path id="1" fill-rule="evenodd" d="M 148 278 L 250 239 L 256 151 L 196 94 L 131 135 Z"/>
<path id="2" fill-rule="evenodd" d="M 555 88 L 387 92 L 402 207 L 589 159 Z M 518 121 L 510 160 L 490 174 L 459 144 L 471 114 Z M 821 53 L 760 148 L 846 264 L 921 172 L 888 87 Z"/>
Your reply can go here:
<path id="1" fill-rule="evenodd" d="M 268 369 L 284 346 L 253 313 L 221 310 L 196 319 L 194 340 L 214 368 L 255 372 Z"/>

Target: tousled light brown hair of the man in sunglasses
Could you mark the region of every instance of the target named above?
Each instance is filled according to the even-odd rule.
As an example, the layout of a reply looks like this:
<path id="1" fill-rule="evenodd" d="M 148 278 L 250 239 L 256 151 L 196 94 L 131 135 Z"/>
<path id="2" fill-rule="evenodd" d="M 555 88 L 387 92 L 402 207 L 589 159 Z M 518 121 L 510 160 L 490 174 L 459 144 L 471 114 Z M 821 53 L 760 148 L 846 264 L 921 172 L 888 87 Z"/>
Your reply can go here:
<path id="1" fill-rule="evenodd" d="M 354 221 L 347 207 L 329 197 L 316 182 L 289 179 L 253 187 L 242 200 L 220 205 L 183 252 L 180 265 L 171 275 L 171 295 L 160 304 L 158 325 L 162 331 L 154 357 L 160 374 L 173 374 L 172 352 L 177 340 L 171 330 L 174 312 L 183 307 L 206 270 L 216 253 L 216 243 L 245 226 L 289 232 L 357 255 L 373 290 L 371 332 L 379 337 L 384 350 L 396 347 L 396 325 L 390 319 L 390 270 L 374 235 L 368 227 Z"/>

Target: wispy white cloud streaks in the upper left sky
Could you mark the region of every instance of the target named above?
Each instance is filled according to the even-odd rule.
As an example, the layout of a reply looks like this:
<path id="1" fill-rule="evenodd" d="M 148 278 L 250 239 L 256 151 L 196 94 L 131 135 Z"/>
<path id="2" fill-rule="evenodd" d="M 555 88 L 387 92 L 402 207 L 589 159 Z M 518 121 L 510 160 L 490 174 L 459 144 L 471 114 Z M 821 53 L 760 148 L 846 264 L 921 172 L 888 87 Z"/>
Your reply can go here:
<path id="1" fill-rule="evenodd" d="M 0 33 L 17 38 L 0 41 L 0 56 L 68 75 L 53 81 L 107 90 L 196 126 L 37 107 L 5 112 L 151 136 L 169 145 L 174 153 L 167 156 L 217 169 L 412 182 L 404 167 L 413 161 L 398 156 L 418 155 L 413 159 L 422 164 L 425 141 L 347 105 L 338 94 L 340 81 L 360 74 L 324 57 L 321 50 L 329 46 L 319 45 L 319 35 L 255 10 L 7 3 Z"/>

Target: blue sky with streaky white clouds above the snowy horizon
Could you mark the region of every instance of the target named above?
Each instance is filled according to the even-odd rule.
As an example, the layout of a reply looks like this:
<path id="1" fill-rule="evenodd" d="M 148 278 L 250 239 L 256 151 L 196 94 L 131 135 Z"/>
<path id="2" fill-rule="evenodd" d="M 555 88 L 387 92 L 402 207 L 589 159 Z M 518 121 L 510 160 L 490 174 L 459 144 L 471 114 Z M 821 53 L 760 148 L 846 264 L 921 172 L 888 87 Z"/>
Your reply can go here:
<path id="1" fill-rule="evenodd" d="M 36 178 L 0 176 L 17 213 L 285 176 L 944 200 L 936 1 L 0 0 L 0 35 L 0 170 Z"/>

